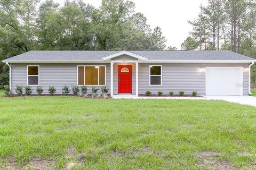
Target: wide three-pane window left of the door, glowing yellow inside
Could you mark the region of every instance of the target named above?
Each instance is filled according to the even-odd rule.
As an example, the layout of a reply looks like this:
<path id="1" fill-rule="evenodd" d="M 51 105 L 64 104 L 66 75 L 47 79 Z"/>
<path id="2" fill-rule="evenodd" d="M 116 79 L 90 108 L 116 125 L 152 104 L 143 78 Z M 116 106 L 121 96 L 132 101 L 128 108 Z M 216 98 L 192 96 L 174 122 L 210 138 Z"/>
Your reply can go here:
<path id="1" fill-rule="evenodd" d="M 77 84 L 88 86 L 105 85 L 106 66 L 77 66 Z"/>

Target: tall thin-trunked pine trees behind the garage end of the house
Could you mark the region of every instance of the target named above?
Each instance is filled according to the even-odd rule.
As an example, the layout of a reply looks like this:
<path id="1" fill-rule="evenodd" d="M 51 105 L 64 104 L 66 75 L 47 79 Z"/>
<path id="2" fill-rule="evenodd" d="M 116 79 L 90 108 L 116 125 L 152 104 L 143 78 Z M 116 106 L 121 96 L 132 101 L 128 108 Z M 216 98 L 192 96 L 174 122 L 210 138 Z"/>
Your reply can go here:
<path id="1" fill-rule="evenodd" d="M 193 21 L 193 30 L 181 44 L 185 50 L 231 50 L 256 58 L 256 1 L 208 0 Z M 252 85 L 256 84 L 252 67 Z"/>

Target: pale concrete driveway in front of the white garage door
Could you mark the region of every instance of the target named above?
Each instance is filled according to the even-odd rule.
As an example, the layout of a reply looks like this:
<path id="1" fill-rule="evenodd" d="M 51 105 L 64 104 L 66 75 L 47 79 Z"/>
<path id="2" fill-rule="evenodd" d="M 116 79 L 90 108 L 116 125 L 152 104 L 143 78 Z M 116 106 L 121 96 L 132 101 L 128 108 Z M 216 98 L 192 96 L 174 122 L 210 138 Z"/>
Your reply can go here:
<path id="1" fill-rule="evenodd" d="M 241 105 L 250 105 L 256 107 L 256 97 L 254 96 L 206 96 L 207 100 L 225 100 L 231 103 Z"/>

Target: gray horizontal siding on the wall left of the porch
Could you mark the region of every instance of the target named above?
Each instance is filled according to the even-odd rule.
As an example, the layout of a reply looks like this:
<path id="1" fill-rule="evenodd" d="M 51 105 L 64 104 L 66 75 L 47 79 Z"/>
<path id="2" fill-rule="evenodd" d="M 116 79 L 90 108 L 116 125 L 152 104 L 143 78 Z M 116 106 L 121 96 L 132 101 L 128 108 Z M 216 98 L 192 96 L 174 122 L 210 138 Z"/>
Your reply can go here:
<path id="1" fill-rule="evenodd" d="M 48 94 L 49 86 L 54 86 L 56 94 L 62 94 L 63 86 L 77 84 L 77 65 L 106 65 L 106 85 L 110 89 L 110 64 L 28 64 L 40 66 L 40 86 L 43 87 L 43 94 Z M 12 91 L 15 93 L 15 86 L 27 85 L 27 64 L 12 64 Z M 33 88 L 33 94 L 36 94 L 36 87 Z M 100 87 L 99 87 L 100 88 Z M 91 86 L 88 86 L 91 93 Z M 72 91 L 70 91 L 72 94 Z"/>

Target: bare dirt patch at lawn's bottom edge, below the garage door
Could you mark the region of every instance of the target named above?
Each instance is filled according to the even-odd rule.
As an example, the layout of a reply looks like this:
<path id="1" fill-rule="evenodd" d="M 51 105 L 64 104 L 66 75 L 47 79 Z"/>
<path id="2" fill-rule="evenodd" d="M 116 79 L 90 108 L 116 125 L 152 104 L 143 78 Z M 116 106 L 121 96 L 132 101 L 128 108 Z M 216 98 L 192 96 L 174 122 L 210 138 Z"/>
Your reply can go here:
<path id="1" fill-rule="evenodd" d="M 202 151 L 199 152 L 199 160 L 197 166 L 199 168 L 207 169 L 225 169 L 225 170 L 235 170 L 236 168 L 231 165 L 227 160 L 218 160 L 221 154 L 215 151 Z"/>

